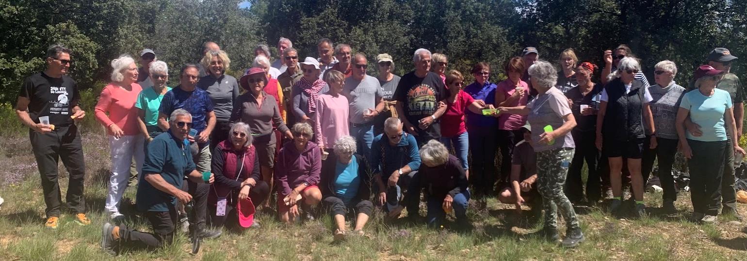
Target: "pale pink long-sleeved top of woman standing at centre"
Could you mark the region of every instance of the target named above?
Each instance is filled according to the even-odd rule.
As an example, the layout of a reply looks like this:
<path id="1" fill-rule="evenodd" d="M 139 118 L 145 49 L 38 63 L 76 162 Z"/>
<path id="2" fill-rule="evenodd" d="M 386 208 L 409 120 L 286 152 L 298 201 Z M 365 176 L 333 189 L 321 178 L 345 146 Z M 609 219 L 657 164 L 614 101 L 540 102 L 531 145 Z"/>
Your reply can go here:
<path id="1" fill-rule="evenodd" d="M 347 123 L 349 110 L 350 104 L 344 95 L 338 94 L 337 97 L 326 93 L 319 95 L 317 119 L 314 123 L 317 145 L 332 148 L 339 137 L 350 135 Z"/>

